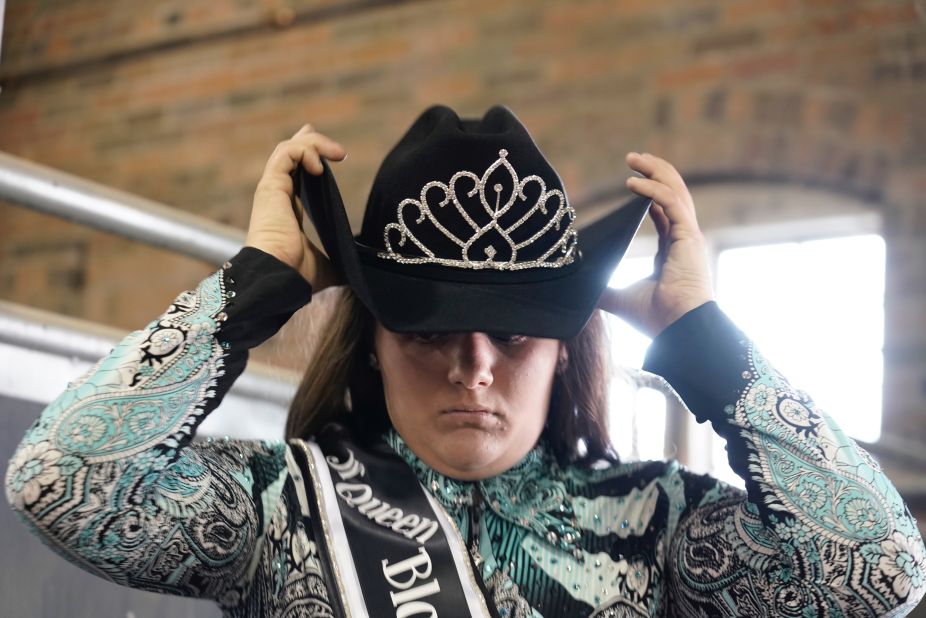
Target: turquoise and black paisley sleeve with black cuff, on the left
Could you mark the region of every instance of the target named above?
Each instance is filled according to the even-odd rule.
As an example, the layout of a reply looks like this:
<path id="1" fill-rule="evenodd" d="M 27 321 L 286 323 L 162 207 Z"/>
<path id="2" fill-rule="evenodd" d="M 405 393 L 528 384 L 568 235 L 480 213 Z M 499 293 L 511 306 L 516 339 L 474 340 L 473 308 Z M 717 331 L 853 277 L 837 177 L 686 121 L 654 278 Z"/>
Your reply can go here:
<path id="1" fill-rule="evenodd" d="M 191 440 L 248 349 L 310 294 L 294 270 L 244 248 L 42 412 L 10 461 L 10 505 L 92 573 L 218 599 L 259 554 L 285 445 Z"/>

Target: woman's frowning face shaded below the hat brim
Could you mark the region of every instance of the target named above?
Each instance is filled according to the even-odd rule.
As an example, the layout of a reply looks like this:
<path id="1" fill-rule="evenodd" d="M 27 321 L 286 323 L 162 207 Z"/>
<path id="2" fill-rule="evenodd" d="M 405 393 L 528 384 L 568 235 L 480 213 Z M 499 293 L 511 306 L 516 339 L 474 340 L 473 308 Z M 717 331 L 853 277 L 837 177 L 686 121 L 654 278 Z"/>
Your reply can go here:
<path id="1" fill-rule="evenodd" d="M 562 346 L 519 335 L 394 333 L 378 324 L 389 418 L 409 448 L 446 476 L 504 472 L 543 431 Z"/>

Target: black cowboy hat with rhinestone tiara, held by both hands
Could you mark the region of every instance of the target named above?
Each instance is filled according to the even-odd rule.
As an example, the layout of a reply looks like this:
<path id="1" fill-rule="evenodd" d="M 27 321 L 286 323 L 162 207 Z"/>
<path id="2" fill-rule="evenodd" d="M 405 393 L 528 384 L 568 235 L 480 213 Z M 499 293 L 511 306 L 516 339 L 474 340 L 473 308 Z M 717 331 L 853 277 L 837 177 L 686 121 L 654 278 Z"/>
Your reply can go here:
<path id="1" fill-rule="evenodd" d="M 294 173 L 332 263 L 396 332 L 569 339 L 649 208 L 636 197 L 577 230 L 562 182 L 505 107 L 427 109 L 386 156 L 356 237 L 328 163 Z"/>

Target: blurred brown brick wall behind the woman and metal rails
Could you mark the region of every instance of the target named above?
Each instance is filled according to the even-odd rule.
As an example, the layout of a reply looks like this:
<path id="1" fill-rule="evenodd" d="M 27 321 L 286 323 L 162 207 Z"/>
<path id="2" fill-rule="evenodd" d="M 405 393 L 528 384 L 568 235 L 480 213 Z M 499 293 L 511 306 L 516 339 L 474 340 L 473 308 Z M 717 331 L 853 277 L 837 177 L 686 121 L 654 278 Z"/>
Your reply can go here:
<path id="1" fill-rule="evenodd" d="M 923 26 L 913 0 L 8 0 L 0 150 L 244 227 L 266 157 L 311 121 L 351 153 L 356 223 L 420 109 L 504 102 L 586 211 L 620 194 L 630 149 L 695 186 L 863 200 L 888 241 L 885 430 L 922 443 Z M 743 216 L 700 207 L 708 227 Z M 209 270 L 0 205 L 3 299 L 133 328 Z"/>

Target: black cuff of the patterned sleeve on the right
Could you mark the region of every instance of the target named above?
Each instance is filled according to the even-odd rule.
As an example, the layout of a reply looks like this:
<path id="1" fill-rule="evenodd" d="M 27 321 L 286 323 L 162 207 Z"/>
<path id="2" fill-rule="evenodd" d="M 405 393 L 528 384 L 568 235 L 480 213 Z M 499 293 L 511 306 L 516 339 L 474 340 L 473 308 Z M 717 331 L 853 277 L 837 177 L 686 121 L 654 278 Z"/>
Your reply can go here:
<path id="1" fill-rule="evenodd" d="M 660 333 L 643 368 L 662 376 L 699 422 L 714 420 L 736 401 L 748 369 L 746 336 L 711 301 Z"/>

